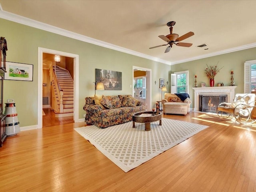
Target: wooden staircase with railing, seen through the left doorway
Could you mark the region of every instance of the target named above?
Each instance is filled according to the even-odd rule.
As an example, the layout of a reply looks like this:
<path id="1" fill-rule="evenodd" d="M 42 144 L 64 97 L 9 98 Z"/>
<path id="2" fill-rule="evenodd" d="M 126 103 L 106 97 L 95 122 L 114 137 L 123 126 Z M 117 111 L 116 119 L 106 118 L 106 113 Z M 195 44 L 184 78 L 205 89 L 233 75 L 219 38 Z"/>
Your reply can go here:
<path id="1" fill-rule="evenodd" d="M 57 108 L 53 108 L 55 117 L 74 116 L 74 82 L 68 70 L 53 67 L 56 79 L 52 79 L 53 94 Z"/>

